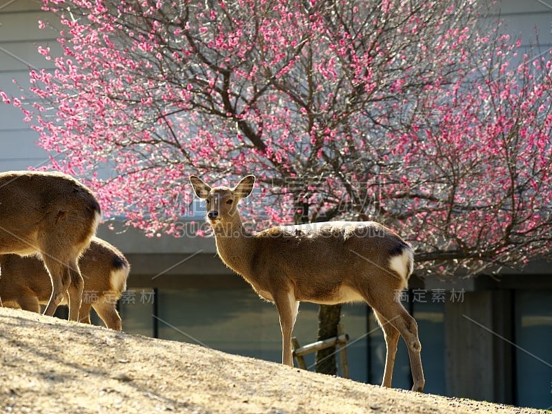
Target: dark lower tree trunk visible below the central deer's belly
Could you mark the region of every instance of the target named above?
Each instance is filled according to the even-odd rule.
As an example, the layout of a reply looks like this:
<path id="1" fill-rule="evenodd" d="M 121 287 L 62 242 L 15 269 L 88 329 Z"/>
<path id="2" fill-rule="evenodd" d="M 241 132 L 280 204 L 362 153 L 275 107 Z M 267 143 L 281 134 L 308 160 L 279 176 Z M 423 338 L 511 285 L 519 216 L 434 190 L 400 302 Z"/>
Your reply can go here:
<path id="1" fill-rule="evenodd" d="M 318 311 L 318 338 L 337 337 L 337 324 L 341 318 L 341 305 L 320 305 Z M 317 351 L 315 357 L 316 372 L 337 375 L 337 359 L 335 346 Z"/>

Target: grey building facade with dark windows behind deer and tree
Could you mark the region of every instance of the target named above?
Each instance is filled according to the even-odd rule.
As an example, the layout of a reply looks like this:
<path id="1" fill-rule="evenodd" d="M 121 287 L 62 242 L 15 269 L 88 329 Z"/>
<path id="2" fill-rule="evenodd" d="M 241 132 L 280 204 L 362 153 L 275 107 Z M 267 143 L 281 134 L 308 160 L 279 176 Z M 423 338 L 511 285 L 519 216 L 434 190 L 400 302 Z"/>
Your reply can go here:
<path id="1" fill-rule="evenodd" d="M 552 2 L 551 2 L 552 5 Z M 552 46 L 552 6 L 546 1 L 500 1 L 491 19 L 506 21 L 509 32 Z M 39 1 L 0 4 L 0 88 L 19 95 L 17 81 L 28 86 L 29 68 L 52 68 L 37 46 L 59 50 L 57 32 L 40 30 L 37 21 L 52 21 Z M 525 46 L 529 47 L 529 43 Z M 37 135 L 21 112 L 0 106 L 0 170 L 41 166 L 48 155 L 36 146 Z M 136 230 L 108 230 L 108 240 L 132 264 L 128 290 L 120 301 L 124 331 L 195 342 L 229 353 L 279 361 L 281 338 L 275 307 L 228 270 L 216 256 L 213 239 L 147 238 Z M 535 263 L 524 273 L 484 275 L 443 284 L 415 279 L 403 302 L 420 328 L 426 391 L 534 406 L 552 407 L 552 270 Z M 385 344 L 370 308 L 343 308 L 342 323 L 351 337 L 351 377 L 379 384 Z M 302 304 L 294 336 L 313 342 L 317 306 Z M 183 358 L 186 355 L 182 356 Z M 313 364 L 307 359 L 307 364 Z M 400 343 L 393 386 L 411 387 L 406 347 Z"/>

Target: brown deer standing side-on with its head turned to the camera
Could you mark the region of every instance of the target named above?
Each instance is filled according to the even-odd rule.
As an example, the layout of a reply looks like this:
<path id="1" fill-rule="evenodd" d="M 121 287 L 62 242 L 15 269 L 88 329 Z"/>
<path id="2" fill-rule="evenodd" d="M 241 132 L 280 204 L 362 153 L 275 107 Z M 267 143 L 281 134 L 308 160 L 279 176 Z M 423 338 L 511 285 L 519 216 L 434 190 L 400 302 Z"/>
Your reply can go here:
<path id="1" fill-rule="evenodd" d="M 237 204 L 253 191 L 255 177 L 234 188 L 211 188 L 191 176 L 195 195 L 206 200 L 222 261 L 276 305 L 282 328 L 282 363 L 293 366 L 291 332 L 299 302 L 366 301 L 382 326 L 387 346 L 382 386 L 391 387 L 399 334 L 408 347 L 413 391 L 424 391 L 417 324 L 398 299 L 413 272 L 413 250 L 373 221 L 327 221 L 278 226 L 249 233 Z"/>

